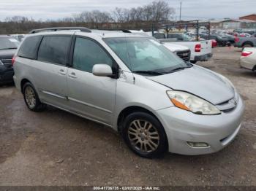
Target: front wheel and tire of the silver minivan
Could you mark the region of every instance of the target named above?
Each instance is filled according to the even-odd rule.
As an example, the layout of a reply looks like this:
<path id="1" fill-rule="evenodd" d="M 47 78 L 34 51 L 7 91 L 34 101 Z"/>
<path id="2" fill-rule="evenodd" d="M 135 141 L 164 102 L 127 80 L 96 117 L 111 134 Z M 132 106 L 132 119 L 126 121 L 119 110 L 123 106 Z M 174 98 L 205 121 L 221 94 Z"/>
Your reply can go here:
<path id="1" fill-rule="evenodd" d="M 165 130 L 151 114 L 129 114 L 124 119 L 121 134 L 129 149 L 140 157 L 161 157 L 167 151 Z"/>

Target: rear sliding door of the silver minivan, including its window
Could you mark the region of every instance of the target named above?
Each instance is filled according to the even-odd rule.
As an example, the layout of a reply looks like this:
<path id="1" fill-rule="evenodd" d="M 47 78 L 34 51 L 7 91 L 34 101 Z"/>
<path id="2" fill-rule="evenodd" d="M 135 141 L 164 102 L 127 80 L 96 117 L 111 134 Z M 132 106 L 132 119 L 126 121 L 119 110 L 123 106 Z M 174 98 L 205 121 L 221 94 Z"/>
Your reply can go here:
<path id="1" fill-rule="evenodd" d="M 61 108 L 67 107 L 67 61 L 72 36 L 43 36 L 34 64 L 34 79 L 40 99 Z"/>

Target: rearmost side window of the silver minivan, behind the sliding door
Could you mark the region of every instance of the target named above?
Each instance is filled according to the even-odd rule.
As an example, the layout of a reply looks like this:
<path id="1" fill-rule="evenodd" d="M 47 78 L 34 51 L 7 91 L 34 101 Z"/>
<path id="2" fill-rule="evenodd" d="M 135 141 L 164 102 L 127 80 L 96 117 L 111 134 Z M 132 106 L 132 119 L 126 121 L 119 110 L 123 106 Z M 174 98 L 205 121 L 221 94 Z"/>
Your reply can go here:
<path id="1" fill-rule="evenodd" d="M 37 46 L 42 36 L 29 36 L 20 46 L 18 56 L 29 59 L 37 58 Z"/>

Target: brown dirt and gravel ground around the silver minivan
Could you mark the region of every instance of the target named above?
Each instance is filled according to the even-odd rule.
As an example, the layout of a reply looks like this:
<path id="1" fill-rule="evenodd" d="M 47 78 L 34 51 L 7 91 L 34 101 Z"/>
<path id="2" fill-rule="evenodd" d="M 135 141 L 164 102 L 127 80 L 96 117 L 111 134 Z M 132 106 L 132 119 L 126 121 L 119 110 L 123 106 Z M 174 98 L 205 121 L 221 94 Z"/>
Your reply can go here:
<path id="1" fill-rule="evenodd" d="M 109 128 L 52 107 L 30 112 L 15 87 L 0 87 L 0 185 L 256 185 L 256 72 L 239 68 L 240 54 L 216 48 L 198 63 L 246 102 L 241 132 L 212 155 L 144 159 Z"/>

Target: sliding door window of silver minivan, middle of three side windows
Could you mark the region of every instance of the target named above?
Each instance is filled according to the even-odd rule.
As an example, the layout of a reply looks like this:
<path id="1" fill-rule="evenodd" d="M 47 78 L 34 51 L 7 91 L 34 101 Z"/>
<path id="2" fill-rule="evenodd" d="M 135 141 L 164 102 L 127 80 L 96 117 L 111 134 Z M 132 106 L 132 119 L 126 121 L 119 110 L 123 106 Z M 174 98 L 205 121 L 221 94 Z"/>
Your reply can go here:
<path id="1" fill-rule="evenodd" d="M 38 61 L 66 65 L 71 36 L 44 36 L 38 50 Z"/>

